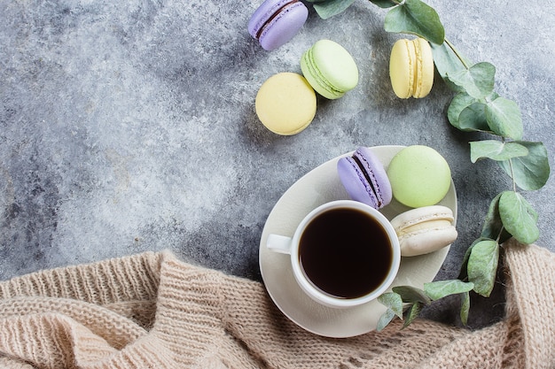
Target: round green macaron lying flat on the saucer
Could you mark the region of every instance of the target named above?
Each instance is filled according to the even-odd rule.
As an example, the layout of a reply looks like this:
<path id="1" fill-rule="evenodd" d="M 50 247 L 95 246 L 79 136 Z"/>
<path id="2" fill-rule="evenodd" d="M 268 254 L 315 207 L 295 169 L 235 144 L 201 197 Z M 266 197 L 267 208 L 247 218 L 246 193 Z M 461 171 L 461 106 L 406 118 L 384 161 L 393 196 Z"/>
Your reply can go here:
<path id="1" fill-rule="evenodd" d="M 408 146 L 395 154 L 387 167 L 395 199 L 412 208 L 442 201 L 451 185 L 449 164 L 436 150 Z"/>

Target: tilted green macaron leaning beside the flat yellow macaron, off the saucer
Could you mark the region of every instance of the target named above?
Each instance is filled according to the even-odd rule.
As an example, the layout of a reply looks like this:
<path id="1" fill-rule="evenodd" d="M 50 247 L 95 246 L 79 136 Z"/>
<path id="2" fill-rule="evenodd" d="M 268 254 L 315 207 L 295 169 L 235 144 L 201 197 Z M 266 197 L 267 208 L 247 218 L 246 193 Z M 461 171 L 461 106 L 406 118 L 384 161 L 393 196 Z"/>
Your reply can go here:
<path id="1" fill-rule="evenodd" d="M 301 57 L 301 71 L 318 94 L 337 99 L 358 84 L 355 59 L 339 43 L 320 40 Z"/>

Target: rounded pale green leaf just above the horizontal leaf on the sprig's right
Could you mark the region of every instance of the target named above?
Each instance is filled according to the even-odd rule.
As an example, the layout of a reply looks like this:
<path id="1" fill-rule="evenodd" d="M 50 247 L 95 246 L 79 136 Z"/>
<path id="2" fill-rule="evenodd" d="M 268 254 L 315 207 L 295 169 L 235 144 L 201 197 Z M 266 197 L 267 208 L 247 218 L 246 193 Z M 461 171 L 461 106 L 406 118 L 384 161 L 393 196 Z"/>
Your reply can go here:
<path id="1" fill-rule="evenodd" d="M 513 140 L 522 138 L 522 118 L 519 105 L 504 97 L 497 97 L 486 104 L 486 119 L 496 135 Z"/>

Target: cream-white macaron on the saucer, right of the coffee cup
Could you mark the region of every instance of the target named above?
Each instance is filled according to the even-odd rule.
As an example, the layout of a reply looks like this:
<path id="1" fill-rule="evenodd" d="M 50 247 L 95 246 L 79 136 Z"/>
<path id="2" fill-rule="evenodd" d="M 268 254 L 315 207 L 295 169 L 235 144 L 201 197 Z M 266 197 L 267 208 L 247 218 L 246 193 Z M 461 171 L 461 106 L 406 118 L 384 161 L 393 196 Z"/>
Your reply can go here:
<path id="1" fill-rule="evenodd" d="M 453 211 L 442 205 L 404 211 L 391 219 L 401 256 L 414 257 L 440 250 L 457 240 Z"/>

